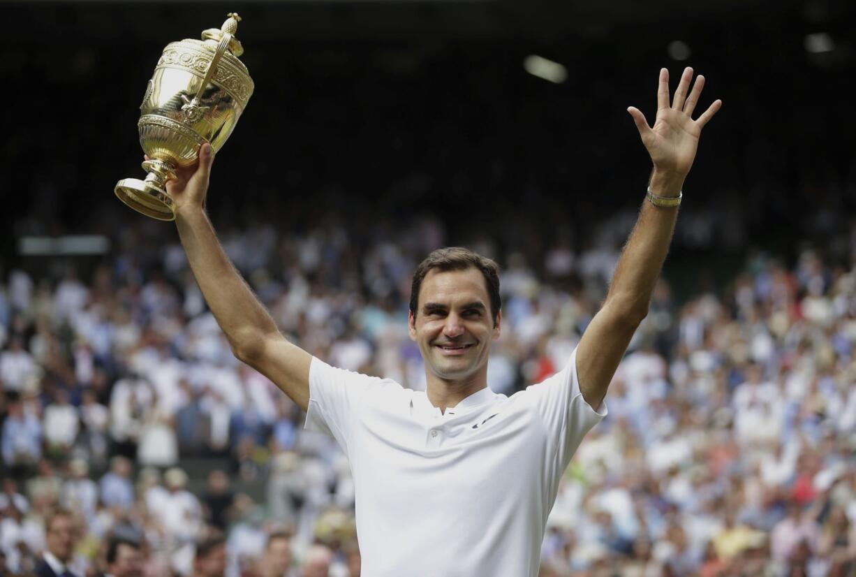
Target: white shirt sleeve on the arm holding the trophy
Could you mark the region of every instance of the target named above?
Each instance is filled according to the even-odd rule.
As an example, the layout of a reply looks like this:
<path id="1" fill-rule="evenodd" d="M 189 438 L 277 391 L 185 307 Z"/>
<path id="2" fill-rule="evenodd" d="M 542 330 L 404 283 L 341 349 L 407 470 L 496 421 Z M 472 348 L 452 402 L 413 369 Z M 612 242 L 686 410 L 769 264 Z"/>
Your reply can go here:
<path id="1" fill-rule="evenodd" d="M 348 438 L 360 406 L 383 384 L 381 378 L 339 369 L 312 357 L 305 428 L 331 434 L 348 455 Z"/>

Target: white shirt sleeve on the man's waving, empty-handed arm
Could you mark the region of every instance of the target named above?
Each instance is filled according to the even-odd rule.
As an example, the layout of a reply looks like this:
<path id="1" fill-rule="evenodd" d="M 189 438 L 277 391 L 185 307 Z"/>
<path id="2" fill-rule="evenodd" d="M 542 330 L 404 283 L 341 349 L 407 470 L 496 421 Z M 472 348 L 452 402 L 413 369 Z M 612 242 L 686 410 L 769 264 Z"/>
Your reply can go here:
<path id="1" fill-rule="evenodd" d="M 535 410 L 550 437 L 552 458 L 547 463 L 548 478 L 558 483 L 583 437 L 606 416 L 606 402 L 596 411 L 583 398 L 577 376 L 576 348 L 562 371 L 527 387 L 526 391 L 534 397 Z"/>

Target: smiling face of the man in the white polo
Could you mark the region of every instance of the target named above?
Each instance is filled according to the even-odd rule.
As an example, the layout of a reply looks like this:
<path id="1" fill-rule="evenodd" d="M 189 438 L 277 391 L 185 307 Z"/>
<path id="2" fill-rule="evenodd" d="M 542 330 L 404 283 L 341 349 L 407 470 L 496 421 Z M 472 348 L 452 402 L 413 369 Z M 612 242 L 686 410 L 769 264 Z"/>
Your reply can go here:
<path id="1" fill-rule="evenodd" d="M 428 271 L 419 289 L 410 338 L 419 344 L 425 367 L 443 379 L 471 378 L 487 364 L 490 343 L 499 336 L 481 271 Z"/>

